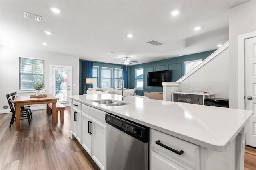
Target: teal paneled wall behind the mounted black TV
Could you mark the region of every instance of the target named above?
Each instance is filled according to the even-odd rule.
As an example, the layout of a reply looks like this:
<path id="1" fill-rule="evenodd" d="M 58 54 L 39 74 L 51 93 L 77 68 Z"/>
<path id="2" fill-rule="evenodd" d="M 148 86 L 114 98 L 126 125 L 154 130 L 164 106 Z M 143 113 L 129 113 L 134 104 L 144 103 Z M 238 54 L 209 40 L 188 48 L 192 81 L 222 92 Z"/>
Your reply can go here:
<path id="1" fill-rule="evenodd" d="M 181 57 L 174 57 L 170 59 L 154 61 L 150 63 L 138 64 L 134 66 L 128 66 L 128 88 L 134 88 L 135 86 L 135 69 L 143 68 L 143 90 L 136 90 L 137 95 L 144 95 L 144 91 L 150 92 L 162 92 L 162 87 L 149 87 L 147 86 L 147 73 L 152 71 L 171 70 L 171 82 L 176 82 L 182 76 L 184 76 L 184 62 L 198 59 L 206 59 L 215 50 L 205 51 L 202 53 L 196 53 L 191 55 L 184 55 Z"/>

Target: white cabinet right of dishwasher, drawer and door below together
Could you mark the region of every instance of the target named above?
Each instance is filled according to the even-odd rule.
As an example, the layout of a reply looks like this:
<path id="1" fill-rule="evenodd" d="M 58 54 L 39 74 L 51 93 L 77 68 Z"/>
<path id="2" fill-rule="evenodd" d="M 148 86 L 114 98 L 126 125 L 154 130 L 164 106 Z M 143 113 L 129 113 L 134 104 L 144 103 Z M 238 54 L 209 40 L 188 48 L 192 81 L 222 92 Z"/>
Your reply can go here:
<path id="1" fill-rule="evenodd" d="M 200 170 L 199 148 L 150 129 L 150 170 Z"/>

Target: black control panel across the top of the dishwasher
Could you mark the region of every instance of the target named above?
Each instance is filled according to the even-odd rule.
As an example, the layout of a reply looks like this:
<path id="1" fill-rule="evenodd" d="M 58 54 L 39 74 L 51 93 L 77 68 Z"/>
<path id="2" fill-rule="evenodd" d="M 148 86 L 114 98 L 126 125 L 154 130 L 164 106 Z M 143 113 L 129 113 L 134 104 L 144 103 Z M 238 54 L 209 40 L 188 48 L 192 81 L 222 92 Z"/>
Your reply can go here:
<path id="1" fill-rule="evenodd" d="M 106 123 L 141 141 L 149 140 L 149 127 L 106 113 Z M 145 142 L 146 143 L 146 142 Z"/>

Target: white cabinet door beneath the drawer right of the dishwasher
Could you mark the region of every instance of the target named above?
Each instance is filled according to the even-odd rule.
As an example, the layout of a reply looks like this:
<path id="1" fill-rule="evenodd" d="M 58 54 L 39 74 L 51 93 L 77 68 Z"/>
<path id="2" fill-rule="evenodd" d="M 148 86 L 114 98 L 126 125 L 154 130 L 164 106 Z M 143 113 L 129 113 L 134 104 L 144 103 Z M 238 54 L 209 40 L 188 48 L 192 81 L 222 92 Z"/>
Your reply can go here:
<path id="1" fill-rule="evenodd" d="M 172 161 L 169 156 L 158 154 L 157 152 L 150 151 L 150 170 L 192 170 L 186 165 L 176 160 Z"/>

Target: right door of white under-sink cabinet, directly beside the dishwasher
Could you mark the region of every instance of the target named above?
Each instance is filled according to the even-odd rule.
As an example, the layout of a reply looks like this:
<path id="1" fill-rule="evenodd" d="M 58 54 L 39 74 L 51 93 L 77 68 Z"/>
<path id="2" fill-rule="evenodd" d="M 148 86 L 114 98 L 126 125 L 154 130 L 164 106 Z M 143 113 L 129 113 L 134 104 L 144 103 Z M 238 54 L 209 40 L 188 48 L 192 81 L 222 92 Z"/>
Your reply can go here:
<path id="1" fill-rule="evenodd" d="M 106 123 L 92 118 L 92 159 L 100 167 L 106 167 Z"/>

